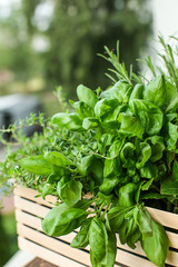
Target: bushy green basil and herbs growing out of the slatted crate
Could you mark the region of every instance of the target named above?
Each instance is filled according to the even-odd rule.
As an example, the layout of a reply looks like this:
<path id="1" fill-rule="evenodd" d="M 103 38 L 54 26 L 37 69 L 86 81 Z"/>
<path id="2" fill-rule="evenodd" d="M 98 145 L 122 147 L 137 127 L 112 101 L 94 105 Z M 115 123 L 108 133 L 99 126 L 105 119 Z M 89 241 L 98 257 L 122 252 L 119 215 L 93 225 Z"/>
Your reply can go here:
<path id="1" fill-rule="evenodd" d="M 131 68 L 127 72 L 119 62 L 119 49 L 115 55 L 106 48 L 108 56 L 102 57 L 113 66 L 111 86 L 105 91 L 79 86 L 78 101 L 70 101 L 73 111 L 55 115 L 40 146 L 39 137 L 33 138 L 28 157 L 13 155 L 20 185 L 37 189 L 43 199 L 56 196 L 42 230 L 62 237 L 80 227 L 70 246 L 87 249 L 89 245 L 93 267 L 115 265 L 117 236 L 129 250 L 140 243 L 156 266 L 165 266 L 167 259 L 164 216 L 154 219 L 154 209 L 147 208 L 176 214 L 178 204 L 177 50 L 159 40 L 166 70 L 148 57 L 145 63 L 152 78 L 146 80 Z M 136 258 L 130 266 L 138 263 Z"/>

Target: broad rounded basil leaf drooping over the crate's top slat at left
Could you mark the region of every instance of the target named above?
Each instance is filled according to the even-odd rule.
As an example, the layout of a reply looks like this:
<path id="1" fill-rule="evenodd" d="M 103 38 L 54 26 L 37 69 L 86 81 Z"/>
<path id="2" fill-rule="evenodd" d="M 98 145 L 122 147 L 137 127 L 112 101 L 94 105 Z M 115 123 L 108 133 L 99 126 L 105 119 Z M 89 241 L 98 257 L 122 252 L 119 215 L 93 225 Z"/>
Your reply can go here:
<path id="1" fill-rule="evenodd" d="M 65 178 L 62 178 L 57 186 L 57 191 L 60 199 L 68 206 L 73 206 L 80 200 L 81 189 L 81 182 L 73 179 L 66 182 Z"/>

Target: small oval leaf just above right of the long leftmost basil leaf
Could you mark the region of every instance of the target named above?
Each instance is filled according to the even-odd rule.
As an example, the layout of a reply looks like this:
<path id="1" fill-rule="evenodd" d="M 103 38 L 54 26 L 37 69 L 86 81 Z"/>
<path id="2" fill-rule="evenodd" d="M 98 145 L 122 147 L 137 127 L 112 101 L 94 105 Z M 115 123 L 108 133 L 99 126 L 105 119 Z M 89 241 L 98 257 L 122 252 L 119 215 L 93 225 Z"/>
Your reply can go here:
<path id="1" fill-rule="evenodd" d="M 50 152 L 46 152 L 44 154 L 44 159 L 51 164 L 51 165 L 56 165 L 56 166 L 65 166 L 65 165 L 72 165 L 72 162 L 61 152 L 57 152 L 57 151 L 50 151 Z"/>

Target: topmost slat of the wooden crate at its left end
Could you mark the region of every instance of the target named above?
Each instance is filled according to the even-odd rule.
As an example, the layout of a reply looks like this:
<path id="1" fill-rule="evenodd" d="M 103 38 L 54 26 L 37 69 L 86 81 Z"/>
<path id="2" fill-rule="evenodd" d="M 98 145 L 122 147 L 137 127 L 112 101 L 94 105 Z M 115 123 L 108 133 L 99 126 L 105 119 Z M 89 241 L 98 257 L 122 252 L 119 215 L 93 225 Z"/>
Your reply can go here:
<path id="1" fill-rule="evenodd" d="M 36 198 L 36 196 L 39 195 L 38 191 L 27 187 L 16 186 L 13 192 L 16 196 L 28 198 L 30 200 L 33 200 L 41 205 L 46 205 L 48 207 L 53 207 L 52 204 L 56 204 L 57 201 L 57 197 L 55 196 L 47 196 L 46 199 L 42 199 L 42 197 Z"/>

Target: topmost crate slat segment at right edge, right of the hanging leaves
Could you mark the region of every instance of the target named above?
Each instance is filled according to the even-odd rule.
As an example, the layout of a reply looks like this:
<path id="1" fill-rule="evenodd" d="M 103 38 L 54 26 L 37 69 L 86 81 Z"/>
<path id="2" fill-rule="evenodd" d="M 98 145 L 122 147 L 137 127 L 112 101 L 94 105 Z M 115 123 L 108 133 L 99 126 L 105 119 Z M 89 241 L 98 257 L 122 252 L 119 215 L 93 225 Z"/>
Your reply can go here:
<path id="1" fill-rule="evenodd" d="M 151 217 L 161 225 L 178 230 L 178 215 L 148 207 L 147 210 Z"/>

